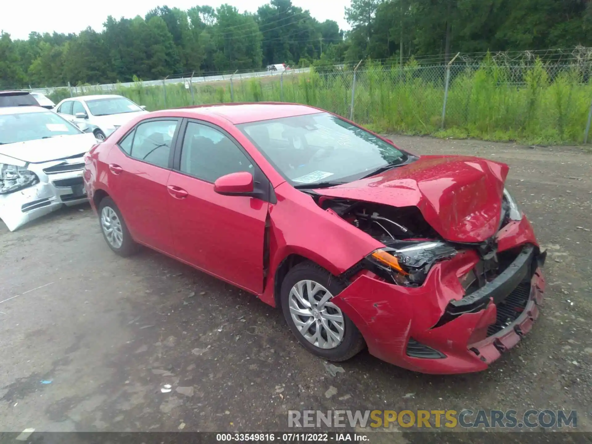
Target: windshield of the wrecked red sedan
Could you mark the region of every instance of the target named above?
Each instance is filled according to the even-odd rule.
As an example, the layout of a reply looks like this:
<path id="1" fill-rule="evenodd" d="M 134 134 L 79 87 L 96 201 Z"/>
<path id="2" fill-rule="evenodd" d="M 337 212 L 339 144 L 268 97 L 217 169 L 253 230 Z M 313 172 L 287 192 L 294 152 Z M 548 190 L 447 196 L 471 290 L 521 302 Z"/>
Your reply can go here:
<path id="1" fill-rule="evenodd" d="M 391 144 L 326 112 L 239 128 L 294 186 L 350 182 L 407 160 Z"/>

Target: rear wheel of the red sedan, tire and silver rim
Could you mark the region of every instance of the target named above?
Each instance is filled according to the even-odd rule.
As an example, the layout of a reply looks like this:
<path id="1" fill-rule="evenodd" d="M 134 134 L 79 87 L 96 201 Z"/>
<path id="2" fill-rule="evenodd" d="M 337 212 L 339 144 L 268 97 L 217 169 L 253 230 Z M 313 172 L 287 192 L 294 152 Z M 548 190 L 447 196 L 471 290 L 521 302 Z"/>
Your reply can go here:
<path id="1" fill-rule="evenodd" d="M 137 251 L 137 243 L 131 239 L 130 231 L 121 212 L 110 197 L 99 204 L 99 222 L 107 245 L 120 256 L 130 256 Z"/>

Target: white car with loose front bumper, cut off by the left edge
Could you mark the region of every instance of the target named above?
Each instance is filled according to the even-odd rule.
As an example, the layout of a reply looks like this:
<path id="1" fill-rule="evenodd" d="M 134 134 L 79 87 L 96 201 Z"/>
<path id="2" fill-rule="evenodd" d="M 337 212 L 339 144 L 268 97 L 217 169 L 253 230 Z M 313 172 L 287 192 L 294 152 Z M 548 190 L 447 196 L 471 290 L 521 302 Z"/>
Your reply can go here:
<path id="1" fill-rule="evenodd" d="M 0 108 L 0 219 L 8 230 L 85 202 L 83 156 L 96 143 L 45 108 Z"/>

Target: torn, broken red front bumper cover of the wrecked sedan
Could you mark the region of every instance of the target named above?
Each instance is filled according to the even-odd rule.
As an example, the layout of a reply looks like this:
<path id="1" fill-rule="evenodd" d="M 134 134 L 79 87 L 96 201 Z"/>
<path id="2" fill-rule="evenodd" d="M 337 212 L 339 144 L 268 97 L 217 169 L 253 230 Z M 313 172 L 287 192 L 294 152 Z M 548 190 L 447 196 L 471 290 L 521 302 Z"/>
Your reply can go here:
<path id="1" fill-rule="evenodd" d="M 536 243 L 526 218 L 513 221 L 498 233 L 504 250 Z M 496 321 L 496 305 L 490 303 L 477 313 L 465 313 L 435 327 L 451 300 L 464 297 L 459 277 L 473 268 L 479 258 L 467 250 L 437 263 L 421 287 L 409 288 L 377 279 L 363 272 L 343 292 L 333 298 L 361 331 L 369 352 L 377 358 L 413 371 L 432 374 L 459 374 L 482 371 L 500 357 L 500 350 L 520 340 L 513 328 L 487 337 L 487 328 Z M 532 327 L 539 315 L 545 281 L 537 269 L 531 281 L 532 300 L 516 321 L 521 334 Z M 536 301 L 536 302 L 535 302 Z M 443 359 L 414 358 L 406 354 L 410 337 L 446 355 Z M 471 349 L 478 350 L 478 355 Z"/>

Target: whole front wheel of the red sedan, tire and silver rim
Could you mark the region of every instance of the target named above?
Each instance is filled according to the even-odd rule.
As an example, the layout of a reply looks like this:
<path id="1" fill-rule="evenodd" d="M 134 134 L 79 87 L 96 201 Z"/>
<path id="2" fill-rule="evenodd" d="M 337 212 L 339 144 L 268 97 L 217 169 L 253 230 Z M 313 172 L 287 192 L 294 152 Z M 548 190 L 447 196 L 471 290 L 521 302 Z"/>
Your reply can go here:
<path id="1" fill-rule="evenodd" d="M 290 330 L 305 349 L 329 361 L 346 361 L 365 346 L 353 322 L 331 302 L 345 284 L 313 262 L 290 269 L 281 303 Z"/>

